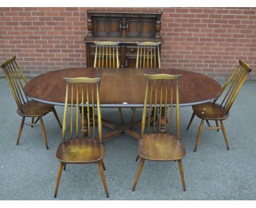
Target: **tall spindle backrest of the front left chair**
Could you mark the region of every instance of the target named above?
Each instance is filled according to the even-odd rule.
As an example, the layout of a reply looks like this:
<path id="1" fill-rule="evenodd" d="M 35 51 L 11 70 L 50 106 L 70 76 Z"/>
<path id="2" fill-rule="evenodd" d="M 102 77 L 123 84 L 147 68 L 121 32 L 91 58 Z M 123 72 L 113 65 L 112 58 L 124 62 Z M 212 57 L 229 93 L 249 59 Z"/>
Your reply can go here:
<path id="1" fill-rule="evenodd" d="M 82 119 L 81 119 L 81 131 L 83 138 L 87 137 L 84 132 L 84 118 L 85 111 L 87 111 L 87 120 L 88 120 L 88 138 L 99 139 L 102 142 L 102 124 L 101 124 L 101 108 L 100 108 L 100 99 L 98 94 L 98 82 L 101 78 L 63 78 L 67 83 L 66 85 L 66 98 L 65 98 L 65 107 L 63 113 L 63 124 L 62 124 L 62 143 L 65 143 L 66 138 L 66 129 L 67 129 L 67 111 L 68 106 L 71 106 L 71 126 L 70 126 L 70 139 L 73 138 L 73 111 L 75 109 L 75 137 L 79 137 L 79 107 L 81 107 Z M 95 107 L 97 108 L 97 124 L 98 124 L 98 136 L 96 135 L 95 130 Z M 84 109 L 86 108 L 86 109 Z M 92 125 L 90 122 L 92 119 Z M 92 126 L 92 130 L 91 130 Z"/>

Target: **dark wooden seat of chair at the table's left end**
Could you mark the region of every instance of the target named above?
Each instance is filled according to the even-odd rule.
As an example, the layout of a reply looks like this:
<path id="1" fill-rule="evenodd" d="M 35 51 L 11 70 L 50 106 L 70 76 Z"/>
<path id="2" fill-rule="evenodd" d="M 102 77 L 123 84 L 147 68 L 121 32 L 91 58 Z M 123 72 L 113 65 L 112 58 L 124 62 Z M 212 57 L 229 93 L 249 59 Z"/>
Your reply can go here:
<path id="1" fill-rule="evenodd" d="M 30 100 L 22 105 L 23 112 L 18 109 L 17 113 L 26 117 L 42 117 L 43 115 L 49 113 L 53 107 L 54 105 Z"/>

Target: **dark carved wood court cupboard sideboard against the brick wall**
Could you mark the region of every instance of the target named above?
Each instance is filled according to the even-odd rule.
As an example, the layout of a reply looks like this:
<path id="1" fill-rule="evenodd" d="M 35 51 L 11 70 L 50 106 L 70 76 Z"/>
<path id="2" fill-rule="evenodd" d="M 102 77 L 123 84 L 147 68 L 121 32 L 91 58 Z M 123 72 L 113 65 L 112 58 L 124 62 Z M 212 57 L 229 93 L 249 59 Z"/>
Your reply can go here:
<path id="1" fill-rule="evenodd" d="M 86 11 L 88 35 L 86 45 L 86 65 L 93 66 L 95 41 L 120 42 L 120 67 L 135 67 L 136 41 L 163 42 L 160 36 L 162 12 L 156 9 L 89 9 Z M 159 48 L 161 50 L 161 48 Z"/>

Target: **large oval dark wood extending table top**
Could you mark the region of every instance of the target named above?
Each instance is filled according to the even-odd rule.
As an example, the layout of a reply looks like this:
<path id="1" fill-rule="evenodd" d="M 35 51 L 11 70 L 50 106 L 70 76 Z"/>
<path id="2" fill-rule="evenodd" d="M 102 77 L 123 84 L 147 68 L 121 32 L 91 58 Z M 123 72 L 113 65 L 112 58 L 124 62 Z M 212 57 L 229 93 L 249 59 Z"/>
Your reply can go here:
<path id="1" fill-rule="evenodd" d="M 25 93 L 33 100 L 64 105 L 66 83 L 63 77 L 101 77 L 100 103 L 102 107 L 142 107 L 146 87 L 144 74 L 180 74 L 180 106 L 210 102 L 222 93 L 221 85 L 213 78 L 191 71 L 174 69 L 98 69 L 74 68 L 48 72 L 32 78 L 25 85 Z"/>

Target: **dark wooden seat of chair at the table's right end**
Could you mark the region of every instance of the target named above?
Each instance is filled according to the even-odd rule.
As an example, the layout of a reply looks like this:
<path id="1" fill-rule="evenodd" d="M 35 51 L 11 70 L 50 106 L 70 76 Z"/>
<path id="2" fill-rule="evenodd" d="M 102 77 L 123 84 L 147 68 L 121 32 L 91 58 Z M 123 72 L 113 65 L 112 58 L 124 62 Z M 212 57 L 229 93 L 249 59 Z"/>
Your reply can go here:
<path id="1" fill-rule="evenodd" d="M 202 103 L 200 105 L 192 106 L 197 117 L 205 120 L 225 120 L 229 118 L 228 114 L 223 114 L 225 108 L 217 103 Z"/>

